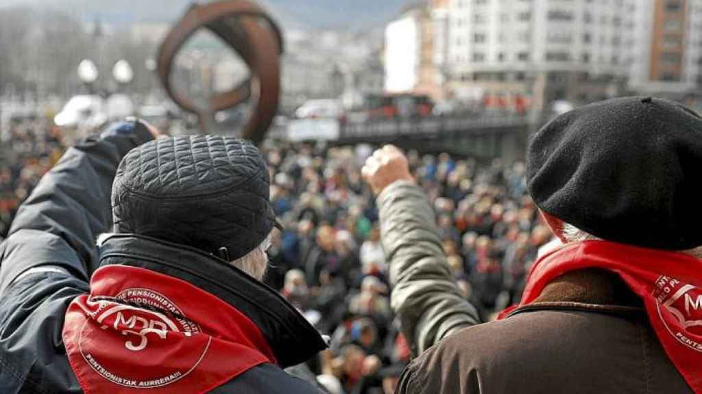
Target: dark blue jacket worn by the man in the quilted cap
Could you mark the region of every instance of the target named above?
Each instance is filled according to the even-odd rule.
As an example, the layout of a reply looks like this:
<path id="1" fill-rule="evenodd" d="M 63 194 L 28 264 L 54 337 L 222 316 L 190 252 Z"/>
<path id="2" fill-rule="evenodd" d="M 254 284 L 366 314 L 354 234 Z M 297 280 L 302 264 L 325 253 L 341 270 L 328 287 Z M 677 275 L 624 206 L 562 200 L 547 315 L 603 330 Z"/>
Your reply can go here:
<path id="1" fill-rule="evenodd" d="M 107 265 L 134 266 L 186 280 L 253 321 L 279 365 L 262 364 L 213 393 L 317 393 L 282 367 L 324 348 L 319 333 L 284 299 L 198 250 L 138 236 L 95 240 L 112 229 L 110 190 L 121 158 L 150 140 L 133 123 L 69 149 L 18 210 L 0 244 L 0 393 L 82 393 L 62 330 L 69 304 L 90 292 Z M 197 267 L 197 269 L 194 269 Z M 204 306 L 206 307 L 206 306 Z"/>

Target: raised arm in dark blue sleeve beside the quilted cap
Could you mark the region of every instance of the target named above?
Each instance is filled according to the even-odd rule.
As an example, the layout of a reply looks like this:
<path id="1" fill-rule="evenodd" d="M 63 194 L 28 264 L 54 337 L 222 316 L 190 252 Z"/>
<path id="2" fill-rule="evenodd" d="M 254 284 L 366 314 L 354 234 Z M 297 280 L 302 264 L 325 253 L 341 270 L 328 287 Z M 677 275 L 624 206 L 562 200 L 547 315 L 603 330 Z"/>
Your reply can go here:
<path id="1" fill-rule="evenodd" d="M 0 294 L 40 266 L 90 278 L 98 264 L 95 238 L 112 226 L 110 191 L 117 166 L 154 135 L 143 123 L 115 123 L 66 152 L 20 206 L 0 247 Z"/>

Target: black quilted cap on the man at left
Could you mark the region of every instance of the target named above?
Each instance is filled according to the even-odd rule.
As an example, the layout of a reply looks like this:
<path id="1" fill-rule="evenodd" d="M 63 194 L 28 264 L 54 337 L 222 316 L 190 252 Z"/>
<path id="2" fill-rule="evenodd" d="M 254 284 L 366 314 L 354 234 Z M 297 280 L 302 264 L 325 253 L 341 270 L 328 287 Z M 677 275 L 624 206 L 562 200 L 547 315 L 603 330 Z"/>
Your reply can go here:
<path id="1" fill-rule="evenodd" d="M 270 179 L 251 142 L 231 137 L 159 138 L 122 159 L 112 186 L 114 231 L 197 247 L 234 260 L 276 220 Z"/>

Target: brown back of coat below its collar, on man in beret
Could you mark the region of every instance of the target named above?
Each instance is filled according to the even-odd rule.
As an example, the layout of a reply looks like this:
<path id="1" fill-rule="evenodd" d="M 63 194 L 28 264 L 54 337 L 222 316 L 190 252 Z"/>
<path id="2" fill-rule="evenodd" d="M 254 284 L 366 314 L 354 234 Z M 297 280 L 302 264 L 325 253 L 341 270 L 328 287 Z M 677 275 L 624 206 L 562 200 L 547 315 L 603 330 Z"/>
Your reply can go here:
<path id="1" fill-rule="evenodd" d="M 465 328 L 405 369 L 396 393 L 692 393 L 641 308 L 543 302 Z"/>

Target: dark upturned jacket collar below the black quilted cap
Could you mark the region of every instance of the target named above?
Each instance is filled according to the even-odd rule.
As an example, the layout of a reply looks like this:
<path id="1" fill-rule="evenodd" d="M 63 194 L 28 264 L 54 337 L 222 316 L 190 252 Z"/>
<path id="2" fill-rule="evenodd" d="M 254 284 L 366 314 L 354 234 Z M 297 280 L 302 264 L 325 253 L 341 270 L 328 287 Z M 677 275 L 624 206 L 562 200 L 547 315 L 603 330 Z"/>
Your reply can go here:
<path id="1" fill-rule="evenodd" d="M 116 234 L 100 246 L 100 266 L 114 264 L 185 280 L 237 308 L 258 326 L 282 367 L 305 362 L 326 348 L 319 332 L 277 292 L 206 252 L 145 236 Z"/>

